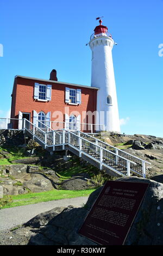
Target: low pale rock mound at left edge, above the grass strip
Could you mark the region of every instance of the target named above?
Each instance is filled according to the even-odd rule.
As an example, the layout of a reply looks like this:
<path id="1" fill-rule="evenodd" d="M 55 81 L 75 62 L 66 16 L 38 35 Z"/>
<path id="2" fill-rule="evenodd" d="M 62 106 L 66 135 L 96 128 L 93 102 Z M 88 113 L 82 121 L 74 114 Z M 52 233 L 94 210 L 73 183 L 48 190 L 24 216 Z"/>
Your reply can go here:
<path id="1" fill-rule="evenodd" d="M 49 191 L 59 185 L 59 178 L 54 170 L 26 164 L 1 166 L 0 180 L 4 195 Z"/>

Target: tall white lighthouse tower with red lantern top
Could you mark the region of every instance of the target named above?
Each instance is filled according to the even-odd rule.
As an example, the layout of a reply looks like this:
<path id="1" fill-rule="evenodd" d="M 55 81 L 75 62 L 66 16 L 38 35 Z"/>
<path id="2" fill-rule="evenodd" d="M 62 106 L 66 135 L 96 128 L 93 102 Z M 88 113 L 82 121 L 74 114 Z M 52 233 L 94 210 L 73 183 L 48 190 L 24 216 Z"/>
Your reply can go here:
<path id="1" fill-rule="evenodd" d="M 89 46 L 92 51 L 91 86 L 100 88 L 97 92 L 96 124 L 101 124 L 96 130 L 120 133 L 114 66 L 112 63 L 112 47 L 115 42 L 108 35 L 108 28 L 99 20 L 91 36 Z"/>

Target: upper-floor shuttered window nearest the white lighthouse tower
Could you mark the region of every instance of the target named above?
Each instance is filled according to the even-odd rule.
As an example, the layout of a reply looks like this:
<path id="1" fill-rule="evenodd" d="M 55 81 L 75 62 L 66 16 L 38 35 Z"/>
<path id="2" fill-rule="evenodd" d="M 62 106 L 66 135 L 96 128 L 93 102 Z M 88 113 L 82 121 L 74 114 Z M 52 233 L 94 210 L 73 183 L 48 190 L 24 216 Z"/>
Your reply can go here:
<path id="1" fill-rule="evenodd" d="M 81 89 L 72 89 L 66 87 L 65 102 L 72 105 L 81 104 Z"/>

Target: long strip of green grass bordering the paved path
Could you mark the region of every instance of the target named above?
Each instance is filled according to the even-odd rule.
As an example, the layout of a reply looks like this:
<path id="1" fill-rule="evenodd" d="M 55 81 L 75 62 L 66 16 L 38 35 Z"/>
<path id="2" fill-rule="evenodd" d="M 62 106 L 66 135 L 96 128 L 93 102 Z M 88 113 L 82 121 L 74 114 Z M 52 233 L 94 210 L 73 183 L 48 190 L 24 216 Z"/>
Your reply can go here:
<path id="1" fill-rule="evenodd" d="M 36 204 L 41 202 L 47 202 L 52 200 L 75 198 L 75 197 L 86 197 L 89 196 L 93 191 L 91 190 L 52 190 L 40 193 L 27 193 L 19 194 L 17 196 L 11 196 L 13 202 L 5 204 L 1 209 L 11 208 L 15 206 Z"/>

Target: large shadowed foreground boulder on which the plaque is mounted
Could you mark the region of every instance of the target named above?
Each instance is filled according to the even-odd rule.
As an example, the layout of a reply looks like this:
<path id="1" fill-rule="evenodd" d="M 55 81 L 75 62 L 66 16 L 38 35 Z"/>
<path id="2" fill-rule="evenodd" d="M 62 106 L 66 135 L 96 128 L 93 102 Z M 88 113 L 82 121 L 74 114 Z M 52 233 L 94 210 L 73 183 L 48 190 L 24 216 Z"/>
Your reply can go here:
<path id="1" fill-rule="evenodd" d="M 143 178 L 121 178 L 124 182 L 148 182 L 149 187 L 127 235 L 125 245 L 162 245 L 163 184 Z M 115 181 L 116 182 L 116 181 Z M 16 230 L 1 236 L 3 245 L 97 245 L 80 236 L 79 228 L 102 187 L 93 192 L 84 208 L 54 208 L 37 215 Z M 9 239 L 12 237 L 12 239 Z"/>

